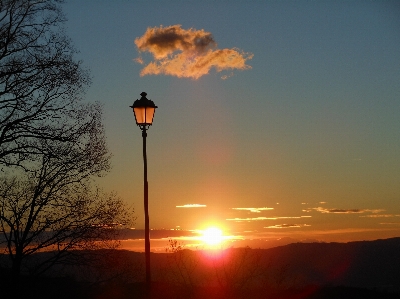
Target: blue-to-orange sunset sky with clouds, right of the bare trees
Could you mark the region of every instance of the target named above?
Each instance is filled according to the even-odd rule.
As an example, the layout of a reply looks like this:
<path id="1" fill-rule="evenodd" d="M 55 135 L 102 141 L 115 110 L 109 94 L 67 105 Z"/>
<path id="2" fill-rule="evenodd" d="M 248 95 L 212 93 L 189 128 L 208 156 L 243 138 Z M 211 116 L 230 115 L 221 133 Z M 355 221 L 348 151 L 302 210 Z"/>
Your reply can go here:
<path id="1" fill-rule="evenodd" d="M 400 236 L 398 1 L 78 1 L 67 33 L 104 104 L 100 179 L 144 227 L 244 238 Z M 246 237 L 247 236 L 247 237 Z"/>

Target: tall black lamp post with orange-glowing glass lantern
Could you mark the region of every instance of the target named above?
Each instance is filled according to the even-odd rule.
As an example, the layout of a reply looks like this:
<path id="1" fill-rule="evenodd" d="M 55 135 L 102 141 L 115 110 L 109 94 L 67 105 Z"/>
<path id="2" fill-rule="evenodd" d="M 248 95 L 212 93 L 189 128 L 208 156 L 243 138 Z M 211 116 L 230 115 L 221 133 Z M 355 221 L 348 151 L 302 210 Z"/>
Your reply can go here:
<path id="1" fill-rule="evenodd" d="M 147 155 L 146 155 L 146 137 L 147 130 L 153 123 L 154 112 L 157 106 L 152 100 L 146 98 L 147 93 L 142 92 L 140 100 L 136 100 L 132 106 L 135 115 L 136 124 L 142 130 L 143 137 L 143 166 L 144 166 L 144 229 L 145 229 L 145 258 L 146 258 L 146 286 L 149 290 L 150 275 L 150 220 L 149 220 L 149 199 L 148 199 L 148 183 L 147 183 Z"/>

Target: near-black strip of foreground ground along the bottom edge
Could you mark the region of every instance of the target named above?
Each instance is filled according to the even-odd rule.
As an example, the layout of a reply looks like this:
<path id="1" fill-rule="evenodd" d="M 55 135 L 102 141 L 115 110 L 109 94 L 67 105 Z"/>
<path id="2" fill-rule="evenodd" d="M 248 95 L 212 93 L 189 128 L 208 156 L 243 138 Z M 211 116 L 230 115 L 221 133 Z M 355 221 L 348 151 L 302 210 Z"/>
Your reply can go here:
<path id="1" fill-rule="evenodd" d="M 1 298 L 41 298 L 41 299 L 400 299 L 400 294 L 374 289 L 345 286 L 307 286 L 292 290 L 235 290 L 229 287 L 186 288 L 166 283 L 153 283 L 150 296 L 142 283 L 110 283 L 88 285 L 68 278 L 62 279 L 22 279 L 21 285 L 1 285 Z"/>

